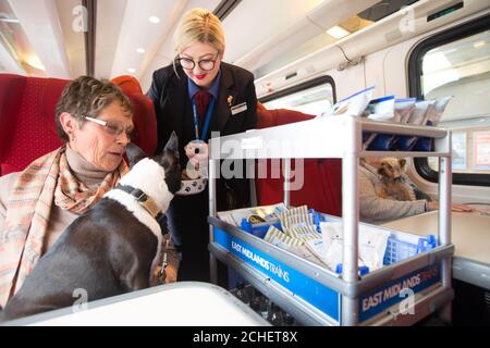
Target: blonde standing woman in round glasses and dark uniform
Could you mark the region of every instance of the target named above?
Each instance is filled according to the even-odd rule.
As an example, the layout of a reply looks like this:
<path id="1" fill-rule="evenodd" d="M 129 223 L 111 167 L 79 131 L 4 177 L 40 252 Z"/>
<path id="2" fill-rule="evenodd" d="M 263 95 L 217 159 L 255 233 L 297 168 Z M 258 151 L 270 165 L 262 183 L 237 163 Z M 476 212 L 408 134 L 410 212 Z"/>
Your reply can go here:
<path id="1" fill-rule="evenodd" d="M 207 153 L 211 132 L 224 136 L 255 127 L 257 96 L 253 74 L 222 61 L 224 34 L 212 12 L 193 9 L 185 13 L 174 34 L 174 62 L 154 73 L 148 96 L 157 114 L 157 151 L 175 130 L 181 165 L 186 167 L 189 160 L 207 161 L 206 154 L 185 151 L 188 142 L 203 141 L 205 151 L 200 153 Z M 248 206 L 249 187 L 243 177 L 218 181 L 218 210 Z M 206 189 L 175 197 L 167 212 L 172 239 L 182 257 L 180 281 L 209 281 L 208 211 Z"/>

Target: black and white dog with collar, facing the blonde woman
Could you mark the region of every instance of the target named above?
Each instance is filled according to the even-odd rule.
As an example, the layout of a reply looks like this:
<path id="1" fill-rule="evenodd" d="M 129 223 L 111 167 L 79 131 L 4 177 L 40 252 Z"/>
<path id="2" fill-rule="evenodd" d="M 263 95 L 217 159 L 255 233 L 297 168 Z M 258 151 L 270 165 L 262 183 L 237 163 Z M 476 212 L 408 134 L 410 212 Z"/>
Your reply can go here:
<path id="1" fill-rule="evenodd" d="M 134 145 L 126 154 L 131 171 L 66 227 L 7 303 L 0 321 L 70 307 L 76 294 L 93 301 L 150 286 L 162 241 L 157 215 L 181 188 L 176 135 L 154 158 Z"/>

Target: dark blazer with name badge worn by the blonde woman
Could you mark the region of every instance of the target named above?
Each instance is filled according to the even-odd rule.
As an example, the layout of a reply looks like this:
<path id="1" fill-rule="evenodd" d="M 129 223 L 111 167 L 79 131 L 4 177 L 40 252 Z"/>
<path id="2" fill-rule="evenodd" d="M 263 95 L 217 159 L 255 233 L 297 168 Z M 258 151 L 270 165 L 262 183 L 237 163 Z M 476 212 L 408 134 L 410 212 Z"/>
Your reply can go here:
<path id="1" fill-rule="evenodd" d="M 173 64 L 155 71 L 148 97 L 154 101 L 157 114 L 158 145 L 156 153 L 161 151 L 172 130 L 175 130 L 179 137 L 181 165 L 184 167 L 187 162 L 184 146 L 195 139 L 194 114 L 188 98 L 187 76 L 179 64 L 175 67 L 176 73 Z M 231 103 L 229 103 L 230 100 Z M 246 102 L 247 110 L 232 115 L 231 108 L 243 102 Z M 221 62 L 218 100 L 205 140 L 207 141 L 210 138 L 211 132 L 220 132 L 220 136 L 225 136 L 255 128 L 257 123 L 256 110 L 257 95 L 254 75 L 242 67 Z M 238 202 L 236 207 L 223 206 L 223 199 L 226 197 L 224 182 L 218 181 L 219 209 L 233 209 L 248 204 L 249 188 L 247 181 L 226 181 L 226 186 L 234 190 Z"/>

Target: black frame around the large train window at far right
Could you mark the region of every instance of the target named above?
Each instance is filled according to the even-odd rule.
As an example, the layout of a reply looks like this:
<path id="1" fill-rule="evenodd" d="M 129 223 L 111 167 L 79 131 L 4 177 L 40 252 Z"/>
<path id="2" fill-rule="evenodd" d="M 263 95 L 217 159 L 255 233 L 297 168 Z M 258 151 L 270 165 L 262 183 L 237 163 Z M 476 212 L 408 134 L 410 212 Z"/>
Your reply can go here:
<path id="1" fill-rule="evenodd" d="M 451 44 L 471 35 L 490 29 L 490 14 L 483 15 L 469 23 L 449 28 L 419 42 L 408 58 L 408 92 L 411 97 L 421 100 L 422 58 L 425 54 L 442 45 Z M 437 183 L 439 172 L 433 171 L 427 158 L 414 158 L 415 170 L 425 179 Z M 453 184 L 469 186 L 490 186 L 490 174 L 453 173 Z"/>

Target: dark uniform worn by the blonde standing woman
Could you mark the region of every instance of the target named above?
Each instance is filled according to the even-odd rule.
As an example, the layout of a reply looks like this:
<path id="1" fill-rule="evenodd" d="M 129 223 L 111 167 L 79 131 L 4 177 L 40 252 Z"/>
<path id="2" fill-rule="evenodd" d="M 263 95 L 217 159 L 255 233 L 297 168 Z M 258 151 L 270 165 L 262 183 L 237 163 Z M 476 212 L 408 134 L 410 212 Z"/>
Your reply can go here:
<path id="1" fill-rule="evenodd" d="M 182 167 L 187 164 L 184 147 L 196 139 L 193 98 L 199 87 L 188 78 L 180 64 L 170 64 L 154 73 L 148 97 L 157 114 L 158 149 L 176 132 Z M 221 62 L 220 72 L 208 88 L 215 99 L 209 127 L 203 136 L 206 120 L 199 122 L 199 137 L 208 142 L 211 132 L 220 136 L 254 128 L 257 121 L 254 75 L 238 66 Z M 212 100 L 210 102 L 212 104 Z M 209 107 L 208 107 L 209 108 Z M 209 110 L 209 109 L 208 109 Z M 233 202 L 230 199 L 233 198 Z M 249 185 L 246 179 L 217 181 L 218 210 L 246 207 L 249 203 Z M 181 246 L 181 281 L 209 281 L 208 190 L 193 196 L 176 196 L 167 212 L 169 227 L 176 247 Z"/>

